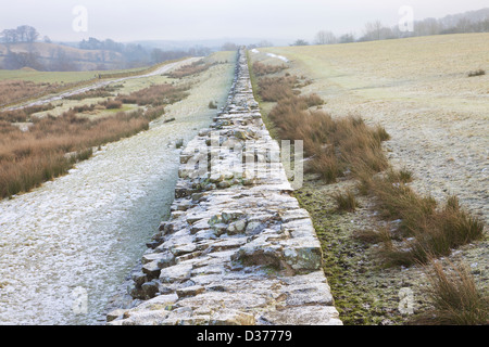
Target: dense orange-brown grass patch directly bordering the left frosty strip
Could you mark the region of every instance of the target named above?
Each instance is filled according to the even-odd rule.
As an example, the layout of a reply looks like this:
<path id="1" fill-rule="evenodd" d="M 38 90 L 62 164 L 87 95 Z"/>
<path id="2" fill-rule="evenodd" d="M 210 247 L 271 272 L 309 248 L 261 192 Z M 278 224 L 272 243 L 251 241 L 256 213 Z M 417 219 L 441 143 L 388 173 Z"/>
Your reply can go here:
<path id="1" fill-rule="evenodd" d="M 0 197 L 66 174 L 75 163 L 89 158 L 92 147 L 147 130 L 163 113 L 164 107 L 158 106 L 89 120 L 70 110 L 59 117 L 36 119 L 26 132 L 0 121 Z"/>

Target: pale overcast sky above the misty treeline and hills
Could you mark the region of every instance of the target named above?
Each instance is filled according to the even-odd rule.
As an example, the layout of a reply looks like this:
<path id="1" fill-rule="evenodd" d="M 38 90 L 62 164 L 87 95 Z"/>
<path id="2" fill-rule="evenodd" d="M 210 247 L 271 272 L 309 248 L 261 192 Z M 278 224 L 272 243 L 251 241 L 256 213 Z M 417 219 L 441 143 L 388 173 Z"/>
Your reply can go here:
<path id="1" fill-rule="evenodd" d="M 30 25 L 59 41 L 83 38 L 312 40 L 318 30 L 361 35 L 364 24 L 397 25 L 402 5 L 414 20 L 479 10 L 487 0 L 0 0 L 0 31 Z M 75 7 L 87 10 L 87 31 L 75 31 Z M 78 28 L 82 22 L 78 23 Z"/>

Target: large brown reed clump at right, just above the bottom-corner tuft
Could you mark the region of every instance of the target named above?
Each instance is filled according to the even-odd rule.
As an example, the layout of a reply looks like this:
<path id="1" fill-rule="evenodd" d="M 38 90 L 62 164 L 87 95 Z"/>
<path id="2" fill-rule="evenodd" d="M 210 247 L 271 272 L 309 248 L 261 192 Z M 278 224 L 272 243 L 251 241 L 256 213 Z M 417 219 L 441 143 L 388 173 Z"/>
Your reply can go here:
<path id="1" fill-rule="evenodd" d="M 400 244 L 385 242 L 381 256 L 388 265 L 426 262 L 482 237 L 484 223 L 461 208 L 455 196 L 440 208 L 432 197 L 419 196 L 402 182 L 375 179 L 371 189 L 383 216 L 400 221 L 397 236 L 405 237 Z"/>

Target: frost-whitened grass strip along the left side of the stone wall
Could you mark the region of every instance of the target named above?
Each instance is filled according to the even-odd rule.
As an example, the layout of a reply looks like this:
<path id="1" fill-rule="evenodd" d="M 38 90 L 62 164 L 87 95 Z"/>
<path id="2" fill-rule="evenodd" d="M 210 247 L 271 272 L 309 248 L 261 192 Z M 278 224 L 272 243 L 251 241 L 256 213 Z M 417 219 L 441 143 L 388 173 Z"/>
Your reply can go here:
<path id="1" fill-rule="evenodd" d="M 174 144 L 209 126 L 216 112 L 210 100 L 221 106 L 227 99 L 234 54 L 218 54 L 229 64 L 192 78 L 190 95 L 165 107 L 174 121 L 158 118 L 148 131 L 103 145 L 68 175 L 0 201 L 2 324 L 100 323 L 145 240 L 170 214 L 179 165 Z M 87 314 L 72 310 L 76 286 L 87 290 Z"/>

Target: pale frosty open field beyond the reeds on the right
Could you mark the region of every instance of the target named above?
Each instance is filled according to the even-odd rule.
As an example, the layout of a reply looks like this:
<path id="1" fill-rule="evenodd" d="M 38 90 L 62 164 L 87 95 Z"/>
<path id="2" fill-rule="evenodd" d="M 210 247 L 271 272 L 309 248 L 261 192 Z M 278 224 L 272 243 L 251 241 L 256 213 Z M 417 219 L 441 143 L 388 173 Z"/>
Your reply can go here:
<path id="1" fill-rule="evenodd" d="M 448 193 L 489 221 L 489 34 L 261 49 L 290 60 L 334 116 L 362 116 L 392 136 L 390 160 L 416 172 L 423 193 Z M 486 75 L 468 77 L 473 70 Z"/>

